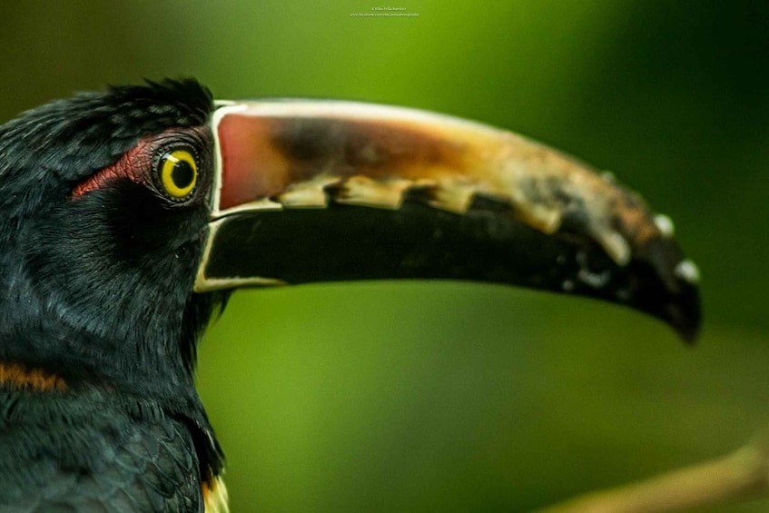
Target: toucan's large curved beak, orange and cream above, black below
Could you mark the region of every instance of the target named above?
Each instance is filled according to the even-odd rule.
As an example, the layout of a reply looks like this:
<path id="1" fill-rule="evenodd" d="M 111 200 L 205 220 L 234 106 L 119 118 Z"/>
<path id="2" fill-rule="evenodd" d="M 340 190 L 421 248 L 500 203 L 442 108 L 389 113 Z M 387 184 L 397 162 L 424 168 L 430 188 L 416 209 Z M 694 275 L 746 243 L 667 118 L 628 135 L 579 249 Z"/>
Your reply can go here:
<path id="1" fill-rule="evenodd" d="M 196 291 L 496 281 L 613 301 L 694 340 L 695 265 L 609 173 L 514 133 L 334 101 L 220 103 Z"/>

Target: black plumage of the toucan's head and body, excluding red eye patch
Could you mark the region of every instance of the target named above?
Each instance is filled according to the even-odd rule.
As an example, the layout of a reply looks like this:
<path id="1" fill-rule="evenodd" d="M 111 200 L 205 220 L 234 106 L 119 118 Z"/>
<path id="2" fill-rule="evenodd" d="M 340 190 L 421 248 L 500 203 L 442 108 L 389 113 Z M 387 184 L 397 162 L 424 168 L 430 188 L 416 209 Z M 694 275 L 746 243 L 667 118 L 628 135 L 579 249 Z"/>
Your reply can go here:
<path id="1" fill-rule="evenodd" d="M 192 379 L 223 298 L 192 293 L 204 194 L 169 205 L 128 179 L 73 191 L 140 140 L 191 130 L 205 186 L 212 108 L 201 84 L 164 80 L 0 126 L 0 364 L 67 385 L 0 386 L 0 510 L 202 508 L 201 480 L 222 468 Z"/>

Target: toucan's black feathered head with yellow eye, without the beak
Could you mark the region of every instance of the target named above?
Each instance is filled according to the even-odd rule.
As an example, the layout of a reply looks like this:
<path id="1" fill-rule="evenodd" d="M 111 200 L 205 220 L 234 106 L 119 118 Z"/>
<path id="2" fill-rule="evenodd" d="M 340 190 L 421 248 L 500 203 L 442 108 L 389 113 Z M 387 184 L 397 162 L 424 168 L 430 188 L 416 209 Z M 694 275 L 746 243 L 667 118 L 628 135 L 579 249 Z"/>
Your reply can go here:
<path id="1" fill-rule="evenodd" d="M 3 360 L 67 382 L 191 382 L 212 308 L 192 284 L 209 220 L 211 94 L 113 88 L 0 127 Z"/>

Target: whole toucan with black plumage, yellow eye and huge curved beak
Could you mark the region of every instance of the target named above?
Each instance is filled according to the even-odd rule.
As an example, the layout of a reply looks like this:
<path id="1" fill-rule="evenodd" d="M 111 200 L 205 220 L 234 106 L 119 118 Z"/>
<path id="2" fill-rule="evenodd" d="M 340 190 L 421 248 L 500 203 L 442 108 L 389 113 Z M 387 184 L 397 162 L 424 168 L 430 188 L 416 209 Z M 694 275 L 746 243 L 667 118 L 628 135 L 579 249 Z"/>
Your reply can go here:
<path id="1" fill-rule="evenodd" d="M 496 282 L 701 323 L 667 216 L 445 114 L 111 86 L 0 126 L 0 192 L 0 511 L 226 511 L 193 378 L 238 288 Z"/>

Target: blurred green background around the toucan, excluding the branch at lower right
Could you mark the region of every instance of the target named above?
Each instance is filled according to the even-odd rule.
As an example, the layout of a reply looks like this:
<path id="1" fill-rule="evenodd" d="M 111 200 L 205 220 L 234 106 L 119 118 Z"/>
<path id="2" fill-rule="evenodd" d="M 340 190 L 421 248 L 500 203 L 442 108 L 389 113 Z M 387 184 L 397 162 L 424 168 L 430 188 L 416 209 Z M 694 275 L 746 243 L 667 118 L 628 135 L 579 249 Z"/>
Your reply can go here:
<path id="1" fill-rule="evenodd" d="M 416 16 L 350 16 L 373 7 Z M 360 99 L 508 127 L 643 192 L 701 267 L 694 349 L 630 311 L 504 287 L 238 292 L 199 370 L 233 511 L 524 511 L 718 456 L 769 424 L 765 2 L 6 3 L 0 62 L 4 121 L 192 75 L 221 98 Z"/>

